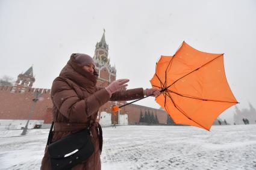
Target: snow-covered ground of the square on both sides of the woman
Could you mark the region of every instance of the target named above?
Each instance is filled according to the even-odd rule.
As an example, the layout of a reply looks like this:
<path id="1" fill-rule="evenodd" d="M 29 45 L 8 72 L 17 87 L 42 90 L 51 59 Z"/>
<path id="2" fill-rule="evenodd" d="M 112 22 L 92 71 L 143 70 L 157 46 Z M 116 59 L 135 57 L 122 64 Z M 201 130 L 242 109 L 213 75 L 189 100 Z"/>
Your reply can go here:
<path id="1" fill-rule="evenodd" d="M 40 169 L 49 129 L 0 130 L 0 169 Z M 105 169 L 256 169 L 256 125 L 103 128 Z M 16 136 L 16 137 L 10 137 Z"/>

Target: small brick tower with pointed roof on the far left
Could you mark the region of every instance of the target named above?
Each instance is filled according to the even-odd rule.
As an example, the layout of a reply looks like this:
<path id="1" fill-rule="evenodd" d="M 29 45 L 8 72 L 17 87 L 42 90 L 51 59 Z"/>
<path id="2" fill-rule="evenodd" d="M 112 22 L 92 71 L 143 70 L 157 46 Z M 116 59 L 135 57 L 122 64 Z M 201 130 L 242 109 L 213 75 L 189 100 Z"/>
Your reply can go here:
<path id="1" fill-rule="evenodd" d="M 17 80 L 14 84 L 11 93 L 25 93 L 27 88 L 31 88 L 35 82 L 35 77 L 33 76 L 33 67 L 31 66 L 25 73 L 20 73 L 17 76 Z"/>

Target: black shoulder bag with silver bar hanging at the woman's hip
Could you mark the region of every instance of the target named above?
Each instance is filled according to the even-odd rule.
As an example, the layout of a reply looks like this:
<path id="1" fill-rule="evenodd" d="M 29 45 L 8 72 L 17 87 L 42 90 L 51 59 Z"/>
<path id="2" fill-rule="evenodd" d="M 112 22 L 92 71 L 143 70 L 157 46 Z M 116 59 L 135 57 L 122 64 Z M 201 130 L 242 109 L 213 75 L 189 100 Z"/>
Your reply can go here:
<path id="1" fill-rule="evenodd" d="M 53 125 L 54 122 L 52 122 L 47 141 L 51 169 L 71 169 L 93 154 L 94 147 L 89 128 L 68 135 L 50 144 Z"/>

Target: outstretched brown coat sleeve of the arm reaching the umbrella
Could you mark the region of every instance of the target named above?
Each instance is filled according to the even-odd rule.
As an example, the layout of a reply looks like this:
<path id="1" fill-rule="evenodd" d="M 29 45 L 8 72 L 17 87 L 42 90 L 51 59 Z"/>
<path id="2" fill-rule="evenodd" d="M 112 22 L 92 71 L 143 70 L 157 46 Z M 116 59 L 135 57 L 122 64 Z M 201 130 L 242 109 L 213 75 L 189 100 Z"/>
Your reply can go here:
<path id="1" fill-rule="evenodd" d="M 102 90 L 102 87 L 99 87 L 98 90 Z M 133 88 L 130 90 L 116 91 L 116 93 L 112 94 L 110 101 L 128 101 L 128 100 L 141 99 L 143 97 L 144 97 L 143 88 Z"/>

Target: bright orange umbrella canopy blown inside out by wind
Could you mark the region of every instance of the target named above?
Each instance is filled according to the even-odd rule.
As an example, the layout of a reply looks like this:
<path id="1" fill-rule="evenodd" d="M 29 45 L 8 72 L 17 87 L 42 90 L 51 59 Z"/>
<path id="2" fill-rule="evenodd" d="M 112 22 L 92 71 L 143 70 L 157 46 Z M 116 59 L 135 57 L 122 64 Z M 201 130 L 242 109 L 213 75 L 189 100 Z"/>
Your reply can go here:
<path id="1" fill-rule="evenodd" d="M 226 80 L 223 53 L 201 52 L 185 42 L 175 55 L 161 56 L 151 85 L 163 91 L 156 101 L 176 124 L 210 130 L 238 103 Z"/>

